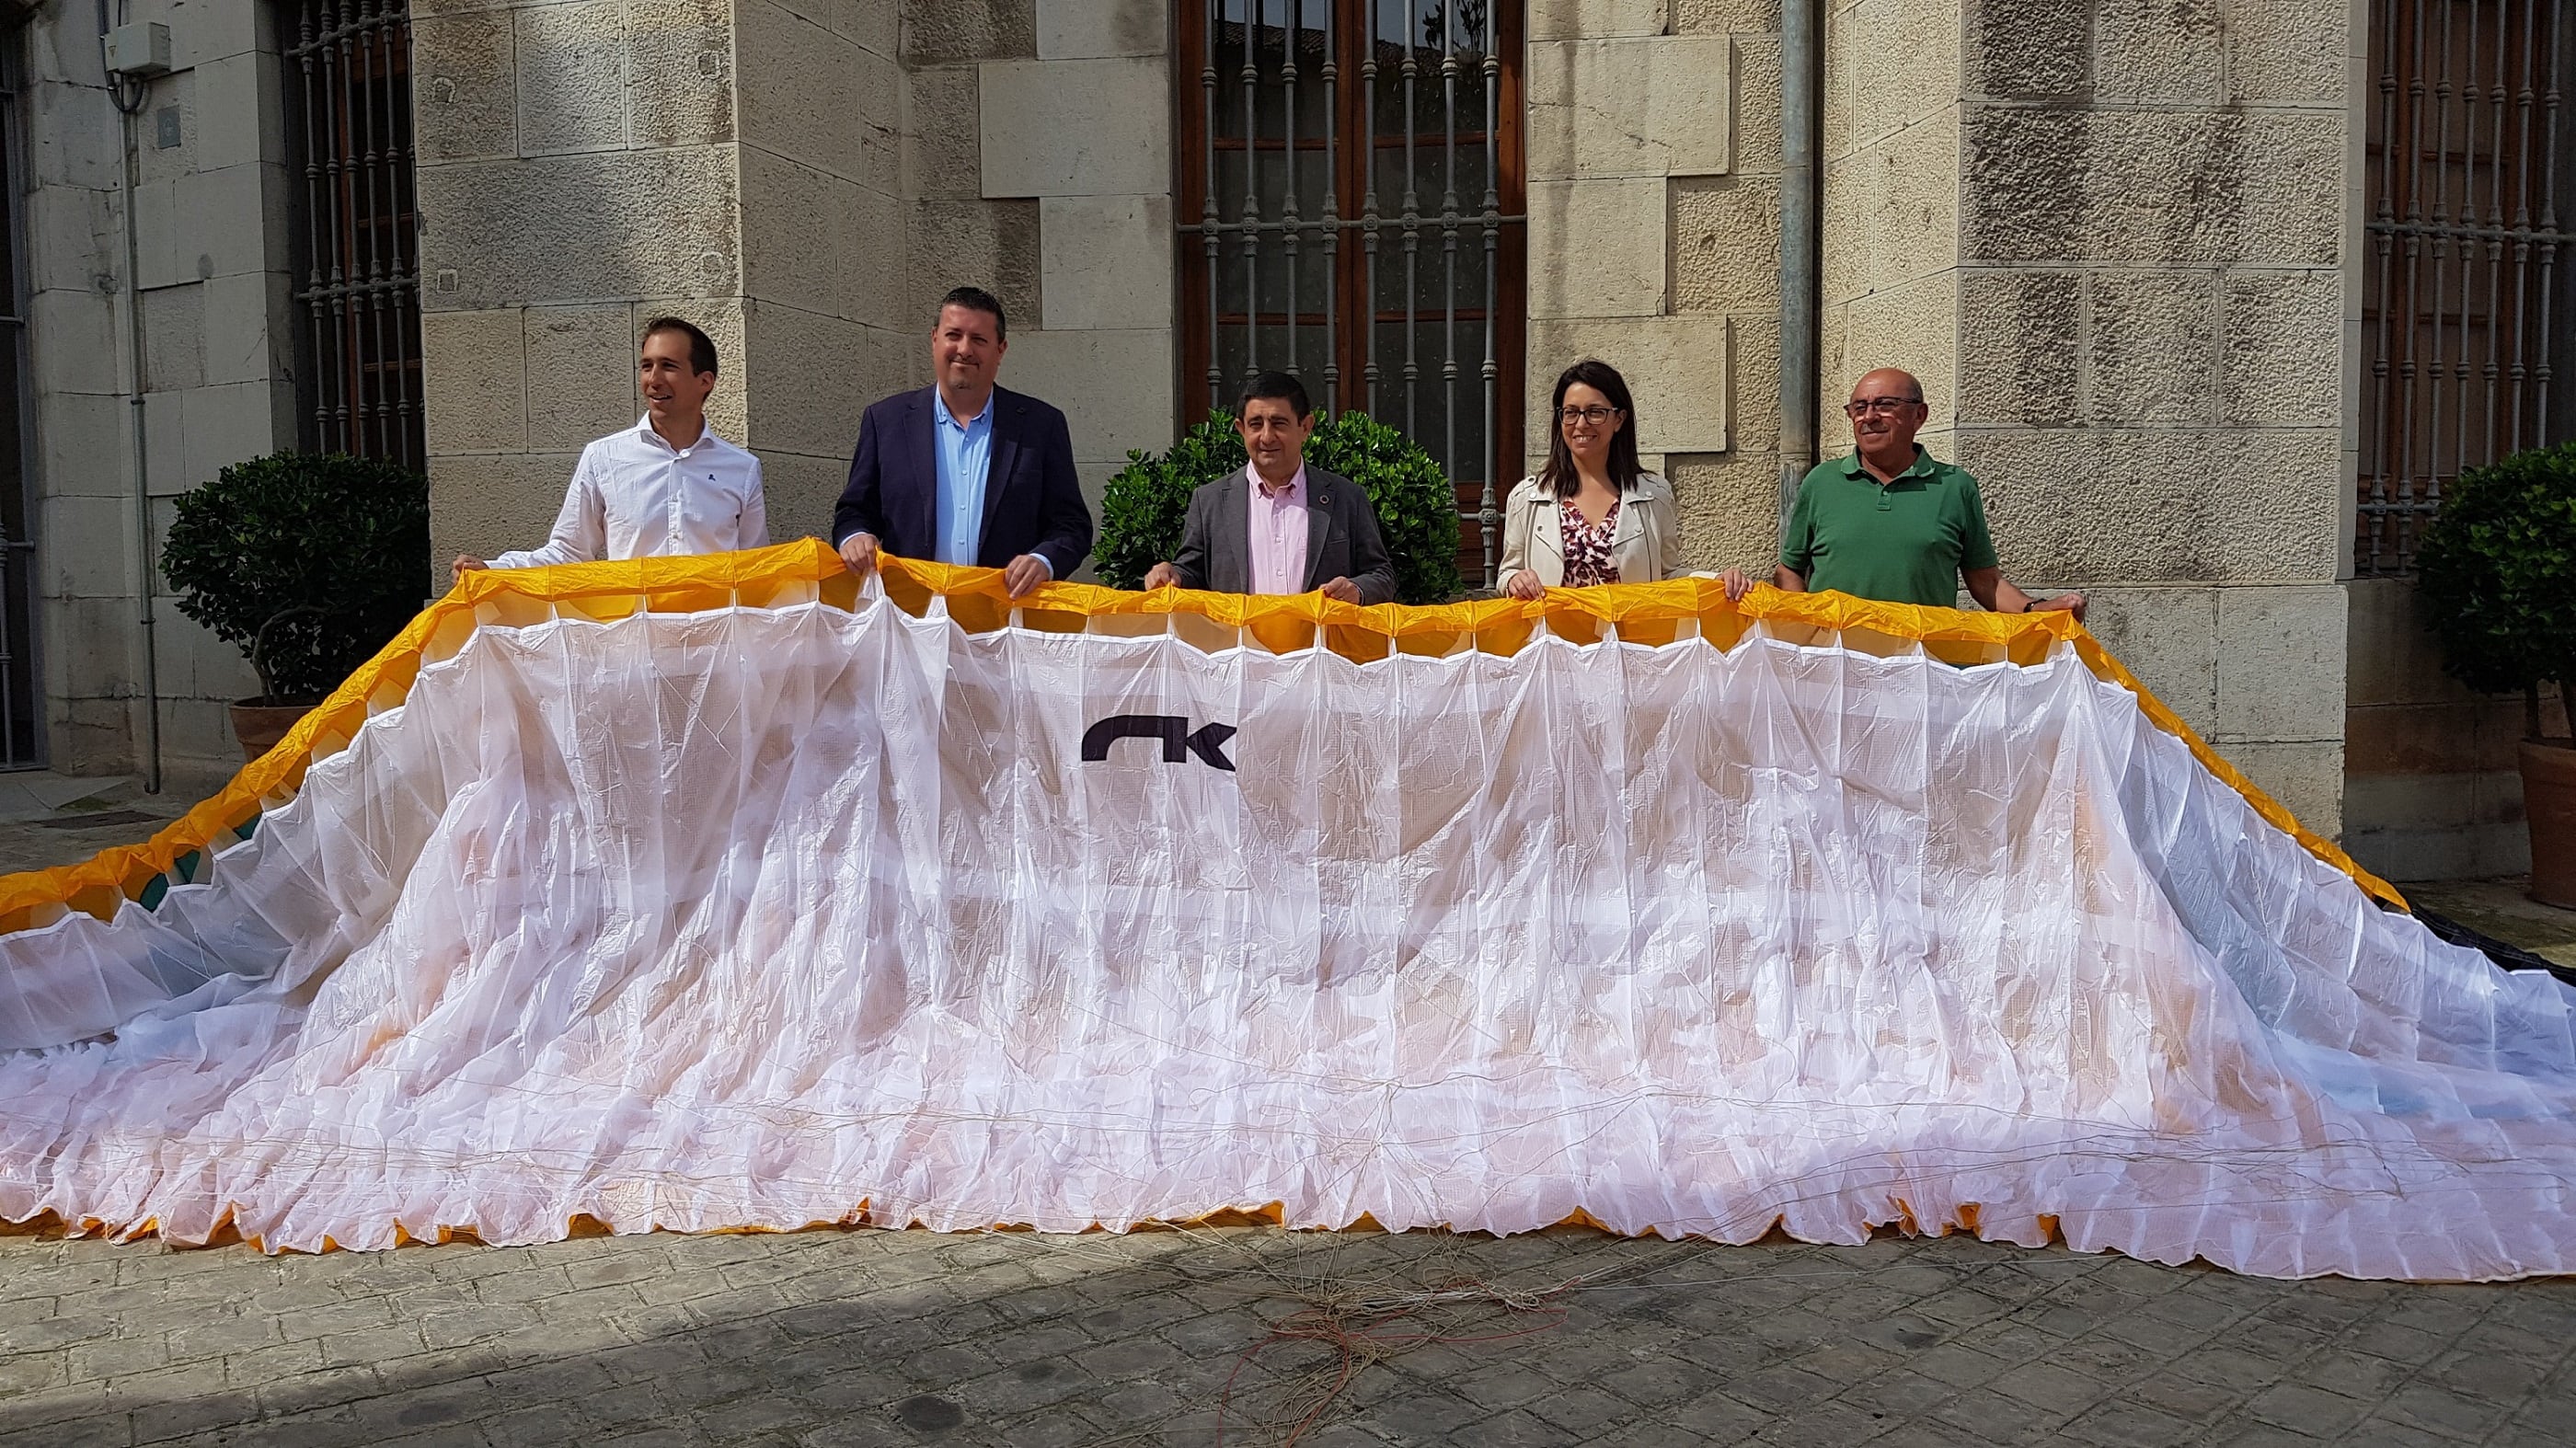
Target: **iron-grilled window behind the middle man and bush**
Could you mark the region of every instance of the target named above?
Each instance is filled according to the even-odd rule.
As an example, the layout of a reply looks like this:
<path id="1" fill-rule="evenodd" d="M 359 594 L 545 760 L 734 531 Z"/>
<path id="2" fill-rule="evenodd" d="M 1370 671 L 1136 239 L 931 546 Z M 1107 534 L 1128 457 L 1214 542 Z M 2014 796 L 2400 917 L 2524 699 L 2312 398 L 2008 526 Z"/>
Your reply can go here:
<path id="1" fill-rule="evenodd" d="M 1182 412 L 1265 368 L 1401 428 L 1494 580 L 1520 459 L 1520 5 L 1180 8 Z"/>

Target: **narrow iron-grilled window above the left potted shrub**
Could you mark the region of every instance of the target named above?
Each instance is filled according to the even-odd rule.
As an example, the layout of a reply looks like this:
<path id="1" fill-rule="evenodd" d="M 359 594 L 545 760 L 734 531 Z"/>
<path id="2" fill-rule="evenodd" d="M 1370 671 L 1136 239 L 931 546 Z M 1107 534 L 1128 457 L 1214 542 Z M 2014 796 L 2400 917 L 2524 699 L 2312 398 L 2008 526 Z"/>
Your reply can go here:
<path id="1" fill-rule="evenodd" d="M 407 0 L 281 10 L 296 214 L 304 446 L 420 466 L 420 234 Z"/>

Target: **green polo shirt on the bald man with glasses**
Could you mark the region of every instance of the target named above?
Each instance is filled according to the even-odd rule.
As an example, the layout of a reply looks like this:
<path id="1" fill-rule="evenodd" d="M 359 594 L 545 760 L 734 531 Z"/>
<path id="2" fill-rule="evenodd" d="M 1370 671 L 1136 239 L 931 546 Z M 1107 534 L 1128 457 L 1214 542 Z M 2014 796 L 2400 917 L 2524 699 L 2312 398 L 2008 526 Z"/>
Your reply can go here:
<path id="1" fill-rule="evenodd" d="M 1855 451 L 1798 484 L 1780 562 L 1814 593 L 1955 608 L 1960 569 L 1994 567 L 1994 536 L 1965 469 L 1917 446 L 1914 466 L 1880 484 Z"/>

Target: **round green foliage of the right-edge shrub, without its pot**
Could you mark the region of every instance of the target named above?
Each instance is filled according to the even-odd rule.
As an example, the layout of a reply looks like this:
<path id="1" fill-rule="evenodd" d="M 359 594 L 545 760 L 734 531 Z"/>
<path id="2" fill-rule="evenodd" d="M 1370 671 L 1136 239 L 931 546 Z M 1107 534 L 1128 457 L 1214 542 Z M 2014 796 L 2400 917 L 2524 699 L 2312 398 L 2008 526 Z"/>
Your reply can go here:
<path id="1" fill-rule="evenodd" d="M 2481 693 L 2555 683 L 2576 719 L 2576 443 L 2463 472 L 2416 572 L 2455 680 Z"/>

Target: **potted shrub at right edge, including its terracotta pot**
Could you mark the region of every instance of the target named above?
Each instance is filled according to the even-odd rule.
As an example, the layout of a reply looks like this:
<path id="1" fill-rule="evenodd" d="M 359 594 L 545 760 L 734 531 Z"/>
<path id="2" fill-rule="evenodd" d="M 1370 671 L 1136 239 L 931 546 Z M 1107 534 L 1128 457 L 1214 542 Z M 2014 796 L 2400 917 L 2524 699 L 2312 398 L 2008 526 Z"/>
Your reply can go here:
<path id="1" fill-rule="evenodd" d="M 2543 688 L 2576 724 L 2576 443 L 2463 472 L 2416 572 L 2442 667 L 2481 693 L 2522 693 L 2532 899 L 2576 907 L 2576 739 L 2540 729 Z"/>

